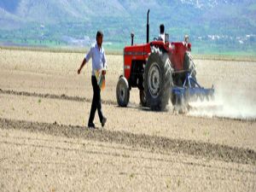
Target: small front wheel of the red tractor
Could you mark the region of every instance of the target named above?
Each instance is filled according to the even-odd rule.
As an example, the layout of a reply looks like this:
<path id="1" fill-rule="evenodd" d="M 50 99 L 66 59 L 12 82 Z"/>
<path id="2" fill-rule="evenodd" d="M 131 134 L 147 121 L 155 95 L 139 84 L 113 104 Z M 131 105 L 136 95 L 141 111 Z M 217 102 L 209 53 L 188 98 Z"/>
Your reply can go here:
<path id="1" fill-rule="evenodd" d="M 130 99 L 130 89 L 127 79 L 120 77 L 116 85 L 116 99 L 120 107 L 126 107 Z"/>

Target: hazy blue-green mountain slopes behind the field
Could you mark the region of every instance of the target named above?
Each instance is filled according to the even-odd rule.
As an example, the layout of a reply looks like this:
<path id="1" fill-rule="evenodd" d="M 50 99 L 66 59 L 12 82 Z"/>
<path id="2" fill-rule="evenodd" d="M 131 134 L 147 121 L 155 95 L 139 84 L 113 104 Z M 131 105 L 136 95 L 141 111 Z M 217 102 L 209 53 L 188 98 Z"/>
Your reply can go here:
<path id="1" fill-rule="evenodd" d="M 113 44 L 128 44 L 130 32 L 144 42 L 148 9 L 150 38 L 164 23 L 174 40 L 188 33 L 196 42 L 209 36 L 244 42 L 247 35 L 254 42 L 253 0 L 1 0 L 0 42 L 62 44 L 67 39 L 94 38 L 99 28 Z"/>

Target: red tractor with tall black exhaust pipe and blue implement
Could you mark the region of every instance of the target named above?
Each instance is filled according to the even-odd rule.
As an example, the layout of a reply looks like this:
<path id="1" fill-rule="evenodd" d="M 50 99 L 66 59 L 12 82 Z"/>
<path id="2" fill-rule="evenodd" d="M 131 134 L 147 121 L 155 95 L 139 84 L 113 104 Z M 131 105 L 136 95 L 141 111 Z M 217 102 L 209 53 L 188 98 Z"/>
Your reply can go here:
<path id="1" fill-rule="evenodd" d="M 131 34 L 131 46 L 125 46 L 124 75 L 119 77 L 116 87 L 120 107 L 127 106 L 133 87 L 140 90 L 143 107 L 160 111 L 165 110 L 169 100 L 176 105 L 188 98 L 188 91 L 195 96 L 199 92 L 205 92 L 203 88 L 198 91 L 185 89 L 188 86 L 195 88 L 197 84 L 195 65 L 190 55 L 191 44 L 185 46 L 183 42 L 171 43 L 168 34 L 164 41 L 154 38 L 154 41 L 149 42 L 148 21 L 147 44 L 133 45 L 133 37 Z"/>

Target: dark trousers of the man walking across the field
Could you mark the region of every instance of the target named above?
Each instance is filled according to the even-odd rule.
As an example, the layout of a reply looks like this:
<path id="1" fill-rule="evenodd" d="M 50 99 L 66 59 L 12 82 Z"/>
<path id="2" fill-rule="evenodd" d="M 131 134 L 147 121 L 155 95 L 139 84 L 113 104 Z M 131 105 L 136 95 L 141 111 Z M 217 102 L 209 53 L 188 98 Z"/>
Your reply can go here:
<path id="1" fill-rule="evenodd" d="M 93 123 L 96 109 L 98 110 L 100 121 L 102 122 L 103 114 L 102 114 L 102 103 L 101 103 L 101 89 L 97 84 L 97 80 L 95 76 L 91 76 L 91 84 L 93 88 L 93 99 L 90 108 L 90 118 L 89 123 Z"/>

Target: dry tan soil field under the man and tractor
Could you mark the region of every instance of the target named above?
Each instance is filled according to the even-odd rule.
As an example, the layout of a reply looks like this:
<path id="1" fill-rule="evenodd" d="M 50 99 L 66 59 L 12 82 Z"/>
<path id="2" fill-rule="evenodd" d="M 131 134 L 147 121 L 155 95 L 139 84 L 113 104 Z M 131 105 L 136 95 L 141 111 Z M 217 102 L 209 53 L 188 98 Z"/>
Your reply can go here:
<path id="1" fill-rule="evenodd" d="M 196 60 L 216 101 L 177 114 L 135 89 L 119 108 L 123 56 L 107 55 L 108 122 L 89 130 L 83 56 L 0 49 L 0 191 L 256 191 L 256 62 Z"/>

